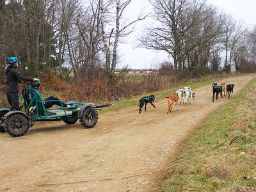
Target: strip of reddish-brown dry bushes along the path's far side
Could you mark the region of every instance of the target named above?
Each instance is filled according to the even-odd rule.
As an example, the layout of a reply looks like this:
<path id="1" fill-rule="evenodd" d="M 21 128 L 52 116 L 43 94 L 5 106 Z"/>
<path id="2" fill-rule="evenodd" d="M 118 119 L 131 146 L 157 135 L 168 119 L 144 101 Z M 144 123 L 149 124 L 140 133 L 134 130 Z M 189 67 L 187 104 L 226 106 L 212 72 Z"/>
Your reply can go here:
<path id="1" fill-rule="evenodd" d="M 216 76 L 208 76 L 206 78 L 212 77 Z M 96 73 L 93 75 L 93 79 L 80 77 L 67 83 L 49 72 L 44 78 L 44 83 L 48 81 L 49 83 L 45 87 L 63 92 L 64 100 L 102 103 L 113 101 L 112 96 L 117 98 L 123 95 L 124 98 L 131 98 L 136 95 L 150 94 L 191 82 L 186 73 L 163 76 L 160 72 L 136 75 L 120 72 L 120 74 L 112 75 L 111 83 L 108 83 L 106 79 L 104 73 Z M 205 77 L 192 79 L 193 83 L 204 80 Z"/>

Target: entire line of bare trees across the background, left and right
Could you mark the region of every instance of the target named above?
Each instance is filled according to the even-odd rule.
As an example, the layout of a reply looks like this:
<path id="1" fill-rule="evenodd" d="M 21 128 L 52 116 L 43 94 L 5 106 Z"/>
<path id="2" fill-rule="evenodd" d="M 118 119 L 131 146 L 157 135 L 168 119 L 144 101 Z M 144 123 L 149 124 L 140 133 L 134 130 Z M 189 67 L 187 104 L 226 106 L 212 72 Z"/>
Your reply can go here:
<path id="1" fill-rule="evenodd" d="M 255 69 L 256 27 L 246 29 L 230 15 L 200 0 L 152 0 L 153 12 L 127 20 L 135 0 L 2 0 L 0 2 L 0 71 L 16 56 L 20 69 L 43 76 L 51 69 L 60 77 L 92 80 L 104 74 L 111 83 L 120 61 L 118 45 L 134 24 L 147 17 L 154 24 L 141 34 L 140 46 L 166 51 L 162 63 L 191 77 L 204 72 Z M 221 63 L 224 63 L 221 67 Z M 63 73 L 63 67 L 69 67 Z"/>

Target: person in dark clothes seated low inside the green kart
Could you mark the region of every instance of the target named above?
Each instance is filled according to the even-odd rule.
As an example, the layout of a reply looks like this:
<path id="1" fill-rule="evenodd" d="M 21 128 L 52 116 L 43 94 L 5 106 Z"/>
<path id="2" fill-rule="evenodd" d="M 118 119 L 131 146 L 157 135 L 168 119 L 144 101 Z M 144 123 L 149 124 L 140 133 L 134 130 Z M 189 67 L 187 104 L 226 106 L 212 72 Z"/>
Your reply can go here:
<path id="1" fill-rule="evenodd" d="M 37 91 L 38 91 L 38 88 L 40 87 L 40 83 L 41 83 L 40 81 L 36 81 L 35 83 L 32 83 L 32 84 L 31 84 L 31 89 L 34 89 L 34 90 L 37 90 Z M 31 91 L 31 93 L 33 93 L 33 94 L 35 95 L 35 92 Z M 40 99 L 40 98 L 38 98 L 38 99 Z M 44 102 L 44 101 L 46 101 L 46 100 L 49 100 L 49 101 L 48 101 L 48 102 Z M 50 101 L 50 100 L 51 100 L 51 101 Z M 73 105 L 71 105 L 71 104 L 65 104 L 65 103 L 62 102 L 60 99 L 58 99 L 57 97 L 53 97 L 53 96 L 50 96 L 50 97 L 48 97 L 47 99 L 44 99 L 43 102 L 44 102 L 44 107 L 45 107 L 45 109 L 51 108 L 54 104 L 57 105 L 57 106 L 60 106 L 60 107 L 63 106 L 64 108 L 70 108 L 70 107 L 72 107 L 72 108 L 70 108 L 70 109 L 72 109 L 72 110 L 78 108 L 77 106 L 73 106 Z M 61 104 L 62 104 L 62 106 L 61 106 Z"/>

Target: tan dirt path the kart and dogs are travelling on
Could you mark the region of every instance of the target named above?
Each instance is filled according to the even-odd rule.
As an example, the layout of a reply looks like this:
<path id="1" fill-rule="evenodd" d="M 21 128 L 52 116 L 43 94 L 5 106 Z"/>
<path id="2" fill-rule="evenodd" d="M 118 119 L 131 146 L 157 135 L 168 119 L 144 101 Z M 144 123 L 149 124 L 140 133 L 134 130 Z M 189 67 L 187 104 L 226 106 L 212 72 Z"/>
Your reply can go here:
<path id="1" fill-rule="evenodd" d="M 233 77 L 234 96 L 255 74 Z M 221 83 L 218 82 L 218 83 Z M 92 129 L 77 122 L 38 122 L 22 137 L 0 134 L 0 190 L 22 184 L 37 185 L 81 180 L 111 179 L 149 173 L 170 166 L 175 149 L 212 111 L 228 102 L 212 103 L 211 84 L 194 89 L 193 105 L 173 105 L 166 115 L 167 100 L 138 113 L 134 107 L 99 112 Z M 170 93 L 172 94 L 172 93 Z M 232 99 L 232 98 L 231 98 Z M 157 173 L 128 179 L 16 188 L 10 191 L 154 191 Z"/>

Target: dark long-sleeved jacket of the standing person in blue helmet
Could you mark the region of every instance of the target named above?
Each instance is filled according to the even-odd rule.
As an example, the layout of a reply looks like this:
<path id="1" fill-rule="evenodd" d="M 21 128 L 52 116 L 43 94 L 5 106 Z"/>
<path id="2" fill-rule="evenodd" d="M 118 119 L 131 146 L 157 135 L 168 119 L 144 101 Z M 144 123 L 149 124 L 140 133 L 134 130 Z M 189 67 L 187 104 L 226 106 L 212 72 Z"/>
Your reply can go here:
<path id="1" fill-rule="evenodd" d="M 6 93 L 16 93 L 19 92 L 19 82 L 28 81 L 32 82 L 33 78 L 25 77 L 20 74 L 14 65 L 9 65 L 6 68 Z"/>

